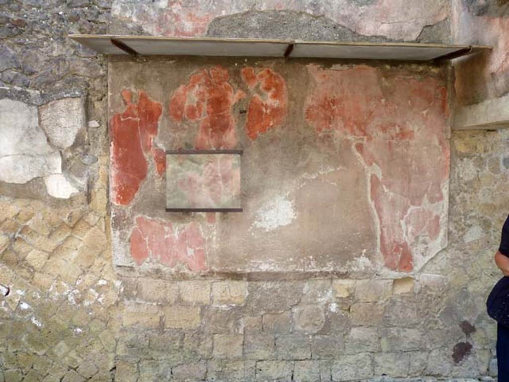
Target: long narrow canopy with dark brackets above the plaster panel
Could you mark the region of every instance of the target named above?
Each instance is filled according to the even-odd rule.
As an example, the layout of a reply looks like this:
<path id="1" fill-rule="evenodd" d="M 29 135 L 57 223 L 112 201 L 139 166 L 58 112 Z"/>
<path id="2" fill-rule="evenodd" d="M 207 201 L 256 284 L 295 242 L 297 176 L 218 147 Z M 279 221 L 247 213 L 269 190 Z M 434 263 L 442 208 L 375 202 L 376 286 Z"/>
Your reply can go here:
<path id="1" fill-rule="evenodd" d="M 424 43 L 291 41 L 160 36 L 70 35 L 104 54 L 132 56 L 285 57 L 350 60 L 451 60 L 490 50 L 490 46 Z"/>

